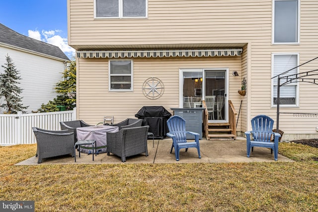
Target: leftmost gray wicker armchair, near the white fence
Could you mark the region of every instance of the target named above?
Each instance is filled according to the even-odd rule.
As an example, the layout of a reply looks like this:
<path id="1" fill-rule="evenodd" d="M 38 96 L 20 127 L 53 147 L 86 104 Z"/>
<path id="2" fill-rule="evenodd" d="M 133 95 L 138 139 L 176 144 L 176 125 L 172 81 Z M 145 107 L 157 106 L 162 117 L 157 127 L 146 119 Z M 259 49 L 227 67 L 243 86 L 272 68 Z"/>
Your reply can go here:
<path id="1" fill-rule="evenodd" d="M 72 154 L 74 157 L 74 133 L 68 130 L 50 131 L 33 127 L 36 138 L 36 156 L 38 163 L 42 163 L 43 158 L 55 157 L 65 154 Z"/>

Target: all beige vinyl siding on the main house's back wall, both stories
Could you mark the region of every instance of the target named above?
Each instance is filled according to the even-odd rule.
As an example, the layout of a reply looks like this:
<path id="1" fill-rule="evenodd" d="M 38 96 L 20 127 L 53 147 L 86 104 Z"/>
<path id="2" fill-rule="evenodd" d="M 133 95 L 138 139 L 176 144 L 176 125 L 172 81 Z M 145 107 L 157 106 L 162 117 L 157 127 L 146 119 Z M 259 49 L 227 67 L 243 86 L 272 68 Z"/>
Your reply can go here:
<path id="1" fill-rule="evenodd" d="M 79 59 L 79 117 L 91 124 L 102 121 L 103 115 L 117 114 L 115 120 L 134 117 L 143 105 L 178 107 L 179 69 L 230 66 L 229 99 L 237 112 L 243 100 L 238 131 L 250 130 L 250 118 L 258 114 L 273 118 L 276 128 L 276 107 L 271 107 L 272 54 L 298 53 L 299 64 L 318 56 L 317 0 L 300 0 L 300 43 L 297 45 L 271 43 L 272 0 L 148 0 L 148 18 L 130 19 L 94 19 L 93 0 L 68 2 L 69 44 L 78 50 L 243 48 L 241 57 L 236 58 L 134 59 L 134 91 L 130 93 L 108 91 L 107 60 Z M 302 66 L 300 72 L 317 67 L 318 60 Z M 239 76 L 234 77 L 232 71 L 238 71 Z M 158 100 L 148 100 L 141 92 L 142 83 L 150 76 L 159 77 L 165 85 L 164 94 Z M 244 76 L 247 92 L 241 97 L 237 90 Z M 93 91 L 96 92 L 94 98 L 90 94 Z M 96 103 L 91 102 L 94 99 Z M 127 106 L 128 100 L 132 106 Z M 97 110 L 93 109 L 94 105 Z M 119 108 L 112 108 L 113 105 Z M 299 107 L 281 107 L 280 111 L 318 113 L 317 105 L 318 85 L 300 82 Z M 280 115 L 279 128 L 285 132 L 286 140 L 294 134 L 317 137 L 316 127 L 316 116 Z"/>

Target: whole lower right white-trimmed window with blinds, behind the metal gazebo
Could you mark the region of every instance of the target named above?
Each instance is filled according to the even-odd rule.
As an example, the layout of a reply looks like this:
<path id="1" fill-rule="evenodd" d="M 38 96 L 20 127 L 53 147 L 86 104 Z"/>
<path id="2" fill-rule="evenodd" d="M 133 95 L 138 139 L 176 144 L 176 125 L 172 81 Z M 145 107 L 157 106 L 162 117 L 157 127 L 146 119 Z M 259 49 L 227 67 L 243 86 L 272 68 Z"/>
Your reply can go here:
<path id="1" fill-rule="evenodd" d="M 273 54 L 272 59 L 272 74 L 277 76 L 285 71 L 291 70 L 298 66 L 298 54 Z M 293 69 L 281 76 L 288 76 L 298 73 L 298 69 Z M 273 95 L 272 105 L 277 105 L 277 77 L 273 78 Z M 280 84 L 286 81 L 286 79 L 280 79 Z M 298 83 L 289 83 L 280 87 L 280 105 L 284 106 L 297 106 L 298 99 Z"/>

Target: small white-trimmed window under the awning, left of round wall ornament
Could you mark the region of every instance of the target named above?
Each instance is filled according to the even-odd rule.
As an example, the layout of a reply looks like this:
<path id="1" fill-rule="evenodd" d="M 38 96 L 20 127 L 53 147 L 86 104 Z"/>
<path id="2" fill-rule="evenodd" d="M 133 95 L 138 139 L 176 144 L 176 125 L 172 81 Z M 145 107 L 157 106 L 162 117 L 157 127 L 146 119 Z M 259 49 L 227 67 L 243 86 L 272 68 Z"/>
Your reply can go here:
<path id="1" fill-rule="evenodd" d="M 132 61 L 109 61 L 109 90 L 133 90 Z"/>

